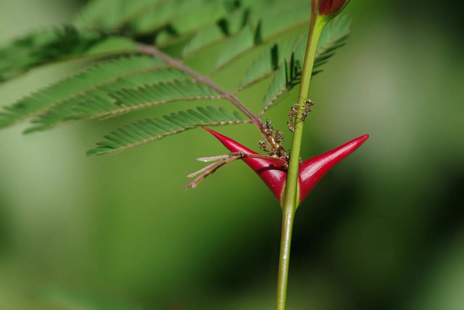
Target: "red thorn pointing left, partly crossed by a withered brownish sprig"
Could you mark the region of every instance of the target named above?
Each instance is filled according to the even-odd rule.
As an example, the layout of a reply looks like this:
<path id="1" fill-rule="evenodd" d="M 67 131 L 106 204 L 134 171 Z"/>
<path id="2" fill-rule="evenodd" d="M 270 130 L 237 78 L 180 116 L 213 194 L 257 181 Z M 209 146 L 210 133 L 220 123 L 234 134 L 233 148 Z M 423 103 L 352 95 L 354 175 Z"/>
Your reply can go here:
<path id="1" fill-rule="evenodd" d="M 203 126 L 208 132 L 213 134 L 226 148 L 231 152 L 245 152 L 247 154 L 258 154 L 257 152 L 251 151 L 249 148 L 239 144 L 238 142 L 221 135 L 209 128 Z M 284 192 L 285 178 L 287 178 L 287 169 L 282 165 L 272 162 L 267 159 L 261 158 L 243 158 L 242 159 L 258 176 L 264 181 L 269 187 L 274 196 L 276 196 L 279 202 L 282 201 Z"/>

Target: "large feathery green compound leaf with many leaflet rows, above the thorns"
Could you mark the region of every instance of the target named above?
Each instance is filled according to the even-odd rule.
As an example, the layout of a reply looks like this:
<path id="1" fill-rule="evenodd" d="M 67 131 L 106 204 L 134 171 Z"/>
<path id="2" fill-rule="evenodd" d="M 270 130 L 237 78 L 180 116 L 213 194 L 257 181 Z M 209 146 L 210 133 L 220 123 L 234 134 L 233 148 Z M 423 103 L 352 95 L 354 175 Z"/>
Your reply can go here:
<path id="1" fill-rule="evenodd" d="M 274 74 L 264 96 L 263 111 L 258 115 L 236 97 L 236 92 L 225 90 L 209 76 L 276 34 L 308 23 L 310 2 L 91 0 L 77 19 L 77 27 L 32 34 L 0 49 L 0 56 L 5 55 L 7 60 L 0 63 L 0 81 L 62 59 L 134 55 L 100 63 L 5 107 L 0 111 L 0 128 L 33 116 L 32 127 L 26 132 L 35 132 L 71 120 L 105 119 L 172 101 L 226 99 L 247 115 L 249 119 L 245 122 L 253 123 L 262 132 L 260 116 L 299 82 L 306 35 L 274 44 L 249 66 L 237 91 Z M 124 33 L 128 37 L 110 35 L 110 32 Z M 348 19 L 336 19 L 326 27 L 318 46 L 313 74 L 320 72 L 319 67 L 344 44 L 348 33 Z M 191 40 L 184 46 L 184 57 L 225 40 L 213 73 L 203 76 L 186 66 L 182 59 L 174 58 L 159 47 L 136 41 L 153 40 L 157 46 L 168 46 L 188 37 Z M 16 61 L 15 57 L 23 60 Z M 118 131 L 135 139 L 133 142 L 115 134 L 113 140 L 108 138 L 110 142 L 100 144 L 94 153 L 130 148 L 199 125 L 241 122 L 237 115 L 226 114 L 222 108 L 216 110 L 208 106 L 163 116 L 155 120 L 158 125 L 154 125 L 153 120 L 142 120 L 127 126 L 125 132 Z M 150 125 L 155 126 L 151 128 L 153 134 L 146 131 Z M 160 132 L 160 128 L 164 131 Z M 134 138 L 133 134 L 142 140 Z M 115 137 L 123 143 L 115 142 Z M 268 139 L 265 135 L 264 138 Z"/>

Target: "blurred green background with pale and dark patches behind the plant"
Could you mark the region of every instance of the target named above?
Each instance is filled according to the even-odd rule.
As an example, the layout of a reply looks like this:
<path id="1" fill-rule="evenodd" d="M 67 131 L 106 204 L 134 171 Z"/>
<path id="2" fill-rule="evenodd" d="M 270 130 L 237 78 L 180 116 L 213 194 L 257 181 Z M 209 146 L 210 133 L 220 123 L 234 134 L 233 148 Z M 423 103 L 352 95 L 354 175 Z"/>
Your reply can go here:
<path id="1" fill-rule="evenodd" d="M 0 45 L 69 22 L 82 4 L 0 0 Z M 302 156 L 370 139 L 297 211 L 289 310 L 464 309 L 464 5 L 449 6 L 348 6 L 352 35 L 313 79 Z M 262 48 L 214 79 L 236 84 Z M 216 51 L 190 64 L 204 68 Z M 82 65 L 7 82 L 0 105 Z M 240 99 L 258 111 L 269 82 Z M 278 129 L 296 91 L 267 114 Z M 0 132 L 0 309 L 274 309 L 275 198 L 239 162 L 183 190 L 203 166 L 195 158 L 225 152 L 208 133 L 84 156 L 116 125 L 183 105 L 26 136 L 25 124 Z M 252 125 L 217 130 L 257 149 Z"/>

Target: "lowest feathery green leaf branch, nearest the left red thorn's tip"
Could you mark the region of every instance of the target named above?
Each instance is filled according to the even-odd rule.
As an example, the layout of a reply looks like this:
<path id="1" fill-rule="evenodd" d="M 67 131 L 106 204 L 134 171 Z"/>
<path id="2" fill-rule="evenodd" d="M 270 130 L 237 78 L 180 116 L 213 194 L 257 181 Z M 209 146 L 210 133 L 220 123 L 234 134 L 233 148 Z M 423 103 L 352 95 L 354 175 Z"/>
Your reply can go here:
<path id="1" fill-rule="evenodd" d="M 87 155 L 122 152 L 200 126 L 247 122 L 237 117 L 239 116 L 238 112 L 233 112 L 233 115 L 222 107 L 216 109 L 213 106 L 199 106 L 197 110 L 171 113 L 163 115 L 162 118 L 141 119 L 103 136 L 106 140 L 97 142 L 97 148 L 87 151 Z"/>

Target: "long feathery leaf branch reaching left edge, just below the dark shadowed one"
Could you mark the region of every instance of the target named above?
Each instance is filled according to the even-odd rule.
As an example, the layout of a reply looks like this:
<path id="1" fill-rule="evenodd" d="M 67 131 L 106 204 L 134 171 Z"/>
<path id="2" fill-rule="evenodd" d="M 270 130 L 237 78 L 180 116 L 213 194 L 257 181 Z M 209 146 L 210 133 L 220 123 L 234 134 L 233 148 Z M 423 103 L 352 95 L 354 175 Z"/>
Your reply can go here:
<path id="1" fill-rule="evenodd" d="M 122 57 L 103 62 L 35 92 L 12 106 L 4 107 L 0 112 L 0 128 L 40 113 L 50 106 L 75 100 L 97 87 L 110 87 L 105 84 L 114 83 L 118 78 L 125 77 L 125 80 L 131 81 L 144 76 L 131 75 L 159 69 L 161 66 L 164 66 L 161 60 L 149 56 Z M 179 78 L 179 75 L 175 78 Z"/>

